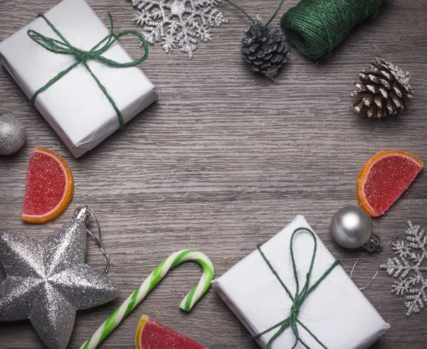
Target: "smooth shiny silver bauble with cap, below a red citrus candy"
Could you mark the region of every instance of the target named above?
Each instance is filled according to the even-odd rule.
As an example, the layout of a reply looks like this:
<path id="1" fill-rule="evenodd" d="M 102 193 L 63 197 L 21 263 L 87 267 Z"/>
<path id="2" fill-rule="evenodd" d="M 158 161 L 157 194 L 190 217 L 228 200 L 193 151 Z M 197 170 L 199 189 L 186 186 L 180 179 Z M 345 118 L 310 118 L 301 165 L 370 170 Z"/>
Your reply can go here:
<path id="1" fill-rule="evenodd" d="M 331 235 L 342 247 L 364 247 L 369 252 L 381 250 L 379 237 L 373 233 L 371 217 L 357 206 L 347 206 L 334 214 Z"/>

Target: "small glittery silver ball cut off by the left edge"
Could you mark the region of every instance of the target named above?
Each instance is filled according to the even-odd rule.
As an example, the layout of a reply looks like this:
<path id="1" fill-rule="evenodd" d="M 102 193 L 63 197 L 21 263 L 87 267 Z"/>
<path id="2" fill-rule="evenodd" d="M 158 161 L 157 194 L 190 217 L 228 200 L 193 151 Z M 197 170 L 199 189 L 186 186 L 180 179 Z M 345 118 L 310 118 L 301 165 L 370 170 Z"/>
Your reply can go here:
<path id="1" fill-rule="evenodd" d="M 22 122 L 10 115 L 0 115 L 0 155 L 11 155 L 25 143 L 26 131 Z"/>

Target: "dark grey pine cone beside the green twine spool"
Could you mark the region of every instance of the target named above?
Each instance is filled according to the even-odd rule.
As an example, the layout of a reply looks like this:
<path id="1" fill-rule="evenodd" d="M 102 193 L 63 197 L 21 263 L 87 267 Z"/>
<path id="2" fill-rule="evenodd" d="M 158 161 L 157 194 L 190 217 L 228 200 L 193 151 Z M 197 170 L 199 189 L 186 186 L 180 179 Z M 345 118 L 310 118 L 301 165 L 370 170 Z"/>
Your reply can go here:
<path id="1" fill-rule="evenodd" d="M 273 79 L 286 62 L 290 49 L 286 47 L 285 34 L 278 28 L 253 24 L 245 32 L 241 53 L 253 72 L 263 73 Z"/>

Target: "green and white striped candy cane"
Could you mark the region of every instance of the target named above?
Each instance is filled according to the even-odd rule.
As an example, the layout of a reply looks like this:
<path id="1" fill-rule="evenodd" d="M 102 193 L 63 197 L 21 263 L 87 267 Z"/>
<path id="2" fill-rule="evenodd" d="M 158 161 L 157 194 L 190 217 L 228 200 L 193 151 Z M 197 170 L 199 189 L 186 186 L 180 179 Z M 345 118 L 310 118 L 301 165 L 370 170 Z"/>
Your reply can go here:
<path id="1" fill-rule="evenodd" d="M 154 289 L 157 284 L 166 276 L 169 270 L 176 267 L 186 261 L 194 261 L 201 265 L 203 269 L 203 275 L 199 281 L 199 284 L 192 289 L 189 294 L 181 301 L 179 307 L 184 311 L 190 311 L 199 299 L 201 299 L 209 287 L 211 287 L 211 281 L 214 279 L 214 266 L 212 265 L 211 259 L 206 254 L 192 249 L 184 249 L 179 252 L 171 254 L 167 259 L 159 264 L 159 267 L 144 280 L 139 289 L 135 290 L 123 304 L 116 309 L 112 315 L 105 320 L 104 323 L 93 333 L 92 337 L 83 344 L 80 349 L 95 349 L 100 345 L 105 338 L 107 338 L 114 329 L 119 326 L 119 323 L 141 303 L 144 298 Z"/>

